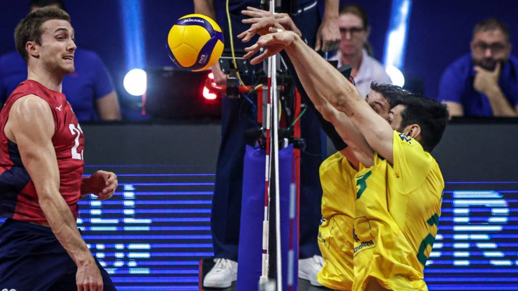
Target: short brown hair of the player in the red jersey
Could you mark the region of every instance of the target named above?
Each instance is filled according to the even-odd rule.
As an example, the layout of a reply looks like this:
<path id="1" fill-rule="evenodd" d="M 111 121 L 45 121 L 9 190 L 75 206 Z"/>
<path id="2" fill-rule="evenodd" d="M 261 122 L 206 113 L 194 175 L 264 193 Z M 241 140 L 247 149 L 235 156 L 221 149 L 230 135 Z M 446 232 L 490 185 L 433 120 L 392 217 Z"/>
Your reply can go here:
<path id="1" fill-rule="evenodd" d="M 28 54 L 25 50 L 27 41 L 36 41 L 41 45 L 41 25 L 52 19 L 66 20 L 70 22 L 70 16 L 67 12 L 54 7 L 44 7 L 29 13 L 24 19 L 18 23 L 15 28 L 16 49 L 23 57 L 25 62 L 28 60 Z"/>

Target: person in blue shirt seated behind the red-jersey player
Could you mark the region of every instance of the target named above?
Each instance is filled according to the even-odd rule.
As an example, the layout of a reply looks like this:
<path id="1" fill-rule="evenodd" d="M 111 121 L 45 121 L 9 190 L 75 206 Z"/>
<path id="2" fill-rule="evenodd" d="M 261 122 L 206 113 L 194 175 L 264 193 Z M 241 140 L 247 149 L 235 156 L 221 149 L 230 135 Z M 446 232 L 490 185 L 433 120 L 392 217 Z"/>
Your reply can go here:
<path id="1" fill-rule="evenodd" d="M 65 10 L 62 0 L 31 0 L 30 12 L 45 6 Z M 120 120 L 113 82 L 100 57 L 93 51 L 76 50 L 76 70 L 63 79 L 63 93 L 79 121 Z M 27 79 L 27 64 L 16 51 L 0 56 L 0 103 Z"/>

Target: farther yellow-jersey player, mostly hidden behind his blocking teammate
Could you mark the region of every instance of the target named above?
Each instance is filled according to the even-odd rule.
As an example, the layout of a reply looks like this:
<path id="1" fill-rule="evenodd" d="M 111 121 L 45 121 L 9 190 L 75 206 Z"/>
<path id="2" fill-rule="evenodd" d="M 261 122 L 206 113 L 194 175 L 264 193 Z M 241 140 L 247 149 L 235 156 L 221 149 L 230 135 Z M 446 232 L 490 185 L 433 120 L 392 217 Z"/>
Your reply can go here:
<path id="1" fill-rule="evenodd" d="M 366 101 L 381 117 L 387 118 L 400 98 L 409 93 L 392 84 L 372 83 Z M 326 131 L 329 135 L 329 133 Z M 320 166 L 322 184 L 322 221 L 319 227 L 319 246 L 324 266 L 318 281 L 335 290 L 351 290 L 353 285 L 353 223 L 355 219 L 356 182 L 358 172 L 351 148 L 339 149 Z M 346 158 L 348 156 L 351 161 Z M 359 165 L 359 169 L 362 165 Z"/>

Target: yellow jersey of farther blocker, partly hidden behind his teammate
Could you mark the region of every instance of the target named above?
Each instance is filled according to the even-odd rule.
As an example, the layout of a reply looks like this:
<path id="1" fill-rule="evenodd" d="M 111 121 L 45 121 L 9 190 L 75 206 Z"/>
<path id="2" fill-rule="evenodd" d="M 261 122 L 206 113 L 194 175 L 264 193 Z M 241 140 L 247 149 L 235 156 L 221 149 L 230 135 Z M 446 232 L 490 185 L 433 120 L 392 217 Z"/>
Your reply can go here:
<path id="1" fill-rule="evenodd" d="M 318 242 L 324 266 L 317 280 L 337 290 L 353 285 L 353 222 L 357 171 L 340 152 L 329 156 L 320 166 L 322 220 Z"/>

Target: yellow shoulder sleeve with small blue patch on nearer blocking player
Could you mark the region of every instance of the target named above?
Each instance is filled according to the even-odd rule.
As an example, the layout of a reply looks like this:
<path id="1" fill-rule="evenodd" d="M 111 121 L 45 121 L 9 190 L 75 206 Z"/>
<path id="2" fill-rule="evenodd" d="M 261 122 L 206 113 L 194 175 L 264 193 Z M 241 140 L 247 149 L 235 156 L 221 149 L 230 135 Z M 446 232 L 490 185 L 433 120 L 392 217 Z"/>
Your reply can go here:
<path id="1" fill-rule="evenodd" d="M 407 192 L 419 187 L 433 167 L 435 159 L 423 150 L 419 142 L 394 131 L 394 172 Z"/>

